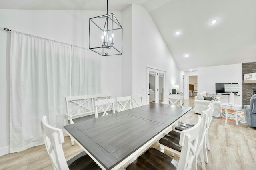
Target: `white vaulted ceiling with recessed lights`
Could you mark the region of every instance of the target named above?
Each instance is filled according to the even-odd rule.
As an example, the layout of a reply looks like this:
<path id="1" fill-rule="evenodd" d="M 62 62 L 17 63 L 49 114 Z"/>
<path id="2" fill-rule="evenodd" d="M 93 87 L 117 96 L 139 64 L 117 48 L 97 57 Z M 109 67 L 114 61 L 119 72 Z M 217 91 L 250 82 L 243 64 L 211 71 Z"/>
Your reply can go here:
<path id="1" fill-rule="evenodd" d="M 108 0 L 108 10 L 130 4 L 148 10 L 181 70 L 256 61 L 256 0 Z M 106 10 L 106 0 L 8 0 L 0 9 Z"/>

